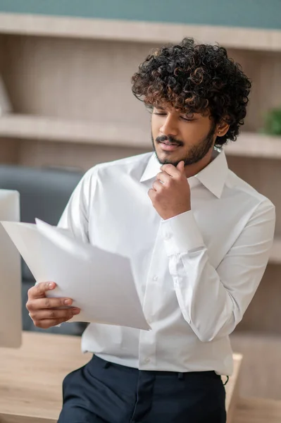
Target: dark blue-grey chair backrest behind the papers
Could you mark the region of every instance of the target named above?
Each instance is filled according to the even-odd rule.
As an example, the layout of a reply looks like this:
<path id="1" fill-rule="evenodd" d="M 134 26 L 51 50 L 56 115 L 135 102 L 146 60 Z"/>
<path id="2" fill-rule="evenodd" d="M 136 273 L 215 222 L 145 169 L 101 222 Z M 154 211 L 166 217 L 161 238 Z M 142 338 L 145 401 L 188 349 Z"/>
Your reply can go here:
<path id="1" fill-rule="evenodd" d="M 52 168 L 0 165 L 0 188 L 20 192 L 20 221 L 35 218 L 56 225 L 83 173 Z M 23 264 L 23 279 L 33 279 Z"/>

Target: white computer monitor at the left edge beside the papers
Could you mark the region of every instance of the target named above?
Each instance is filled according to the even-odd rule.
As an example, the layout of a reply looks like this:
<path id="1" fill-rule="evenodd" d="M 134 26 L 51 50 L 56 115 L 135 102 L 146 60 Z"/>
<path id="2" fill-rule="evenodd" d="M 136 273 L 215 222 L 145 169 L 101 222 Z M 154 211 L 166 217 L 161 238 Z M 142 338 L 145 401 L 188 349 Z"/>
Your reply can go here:
<path id="1" fill-rule="evenodd" d="M 0 190 L 0 222 L 20 221 L 20 195 Z M 18 348 L 22 341 L 20 253 L 0 224 L 0 347 Z"/>

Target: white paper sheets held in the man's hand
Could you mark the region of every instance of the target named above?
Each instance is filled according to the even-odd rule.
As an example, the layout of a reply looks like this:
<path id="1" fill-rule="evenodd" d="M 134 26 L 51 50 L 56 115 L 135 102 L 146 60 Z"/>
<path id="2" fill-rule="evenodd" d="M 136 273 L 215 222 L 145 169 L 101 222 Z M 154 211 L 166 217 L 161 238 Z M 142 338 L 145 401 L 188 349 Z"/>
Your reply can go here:
<path id="1" fill-rule="evenodd" d="M 151 329 L 139 301 L 130 260 L 82 243 L 54 226 L 1 222 L 35 281 L 54 281 L 49 297 L 73 299 L 71 321 Z"/>

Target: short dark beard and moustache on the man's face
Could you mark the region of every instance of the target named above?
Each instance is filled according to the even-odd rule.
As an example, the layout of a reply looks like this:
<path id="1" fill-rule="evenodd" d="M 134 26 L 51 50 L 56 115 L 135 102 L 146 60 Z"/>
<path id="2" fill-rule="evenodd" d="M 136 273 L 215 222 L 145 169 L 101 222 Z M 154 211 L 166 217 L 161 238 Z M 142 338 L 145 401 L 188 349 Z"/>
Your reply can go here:
<path id="1" fill-rule="evenodd" d="M 213 147 L 213 141 L 214 141 L 213 136 L 215 135 L 215 132 L 216 132 L 216 125 L 213 123 L 206 137 L 204 137 L 204 139 L 198 142 L 196 145 L 192 145 L 192 147 L 190 147 L 189 151 L 184 157 L 180 157 L 179 159 L 176 159 L 176 160 L 169 159 L 169 158 L 161 160 L 158 157 L 158 154 L 156 152 L 155 144 L 156 142 L 168 141 L 168 142 L 173 142 L 173 144 L 177 144 L 180 147 L 182 147 L 185 145 L 184 142 L 182 142 L 181 140 L 175 140 L 175 138 L 171 137 L 170 135 L 161 135 L 161 137 L 156 137 L 155 142 L 154 142 L 153 136 L 151 135 L 151 140 L 152 140 L 154 152 L 156 153 L 156 157 L 160 164 L 173 164 L 173 166 L 177 166 L 177 164 L 179 164 L 180 161 L 183 160 L 185 161 L 185 166 L 188 166 L 190 164 L 197 163 L 198 161 L 200 161 L 206 156 L 206 154 L 211 149 L 211 147 Z"/>

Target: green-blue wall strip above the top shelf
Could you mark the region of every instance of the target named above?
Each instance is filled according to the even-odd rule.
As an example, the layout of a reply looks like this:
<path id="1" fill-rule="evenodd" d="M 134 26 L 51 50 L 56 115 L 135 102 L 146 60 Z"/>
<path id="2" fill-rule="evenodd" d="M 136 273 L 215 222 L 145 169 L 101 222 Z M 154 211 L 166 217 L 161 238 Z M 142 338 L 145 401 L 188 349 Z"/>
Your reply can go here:
<path id="1" fill-rule="evenodd" d="M 281 0 L 0 0 L 0 11 L 281 30 Z"/>

